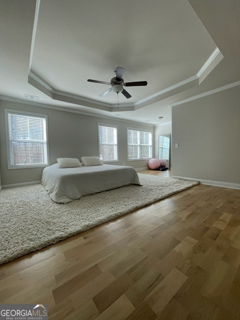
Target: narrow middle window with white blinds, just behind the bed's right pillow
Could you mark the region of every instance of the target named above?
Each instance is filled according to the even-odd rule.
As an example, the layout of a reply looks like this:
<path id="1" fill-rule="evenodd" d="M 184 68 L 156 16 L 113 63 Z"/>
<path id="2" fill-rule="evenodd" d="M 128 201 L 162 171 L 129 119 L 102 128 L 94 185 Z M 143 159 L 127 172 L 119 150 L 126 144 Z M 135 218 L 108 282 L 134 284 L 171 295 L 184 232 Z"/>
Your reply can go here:
<path id="1" fill-rule="evenodd" d="M 117 127 L 98 124 L 99 157 L 102 161 L 117 161 Z"/>

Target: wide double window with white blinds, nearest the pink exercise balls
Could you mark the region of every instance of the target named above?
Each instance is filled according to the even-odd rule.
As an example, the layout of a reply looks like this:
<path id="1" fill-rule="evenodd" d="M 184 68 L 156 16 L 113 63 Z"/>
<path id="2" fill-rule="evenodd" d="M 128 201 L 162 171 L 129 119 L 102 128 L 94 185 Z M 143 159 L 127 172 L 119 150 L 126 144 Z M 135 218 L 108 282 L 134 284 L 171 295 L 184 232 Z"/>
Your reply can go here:
<path id="1" fill-rule="evenodd" d="M 127 129 L 127 158 L 149 159 L 151 157 L 151 132 Z"/>

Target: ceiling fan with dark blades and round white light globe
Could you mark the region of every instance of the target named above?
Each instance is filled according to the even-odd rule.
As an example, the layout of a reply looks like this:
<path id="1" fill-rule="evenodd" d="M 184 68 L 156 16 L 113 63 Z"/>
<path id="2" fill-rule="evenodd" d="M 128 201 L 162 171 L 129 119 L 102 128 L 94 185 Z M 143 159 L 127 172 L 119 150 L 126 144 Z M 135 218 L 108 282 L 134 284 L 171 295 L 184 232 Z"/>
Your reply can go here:
<path id="1" fill-rule="evenodd" d="M 124 68 L 121 66 L 117 66 L 116 70 L 114 71 L 115 76 L 111 78 L 110 82 L 106 81 L 98 81 L 98 80 L 93 80 L 93 79 L 87 79 L 89 82 L 95 82 L 95 83 L 103 83 L 103 84 L 108 84 L 111 85 L 109 89 L 106 91 L 102 92 L 99 96 L 104 96 L 110 91 L 118 93 L 122 93 L 127 99 L 131 97 L 130 93 L 128 93 L 125 89 L 124 86 L 138 86 L 138 85 L 147 85 L 146 81 L 134 81 L 134 82 L 124 82 L 122 75 L 124 72 Z"/>

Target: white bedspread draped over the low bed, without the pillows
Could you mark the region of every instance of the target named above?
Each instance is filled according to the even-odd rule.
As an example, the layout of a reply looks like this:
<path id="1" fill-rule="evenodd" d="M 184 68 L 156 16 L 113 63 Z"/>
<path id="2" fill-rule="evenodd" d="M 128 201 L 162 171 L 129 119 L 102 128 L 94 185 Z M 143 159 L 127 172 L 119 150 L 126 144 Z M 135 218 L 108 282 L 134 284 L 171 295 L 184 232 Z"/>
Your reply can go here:
<path id="1" fill-rule="evenodd" d="M 123 185 L 140 185 L 134 168 L 112 164 L 58 168 L 54 163 L 43 169 L 41 181 L 50 198 L 61 203 Z"/>

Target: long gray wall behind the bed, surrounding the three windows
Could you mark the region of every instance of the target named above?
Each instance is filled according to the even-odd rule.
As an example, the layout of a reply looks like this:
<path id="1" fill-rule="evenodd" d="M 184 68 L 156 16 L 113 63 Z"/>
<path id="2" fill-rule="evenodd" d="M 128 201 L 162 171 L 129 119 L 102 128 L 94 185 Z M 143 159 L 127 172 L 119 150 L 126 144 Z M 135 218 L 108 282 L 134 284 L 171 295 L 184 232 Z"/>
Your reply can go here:
<path id="1" fill-rule="evenodd" d="M 126 129 L 131 127 L 150 130 L 154 141 L 154 127 L 151 125 L 0 100 L 0 176 L 3 186 L 39 181 L 42 172 L 42 168 L 7 169 L 5 108 L 47 114 L 50 164 L 55 163 L 57 157 L 98 155 L 97 123 L 101 122 L 118 126 L 118 162 L 113 164 L 124 163 L 136 169 L 147 167 L 147 160 L 127 161 Z"/>

